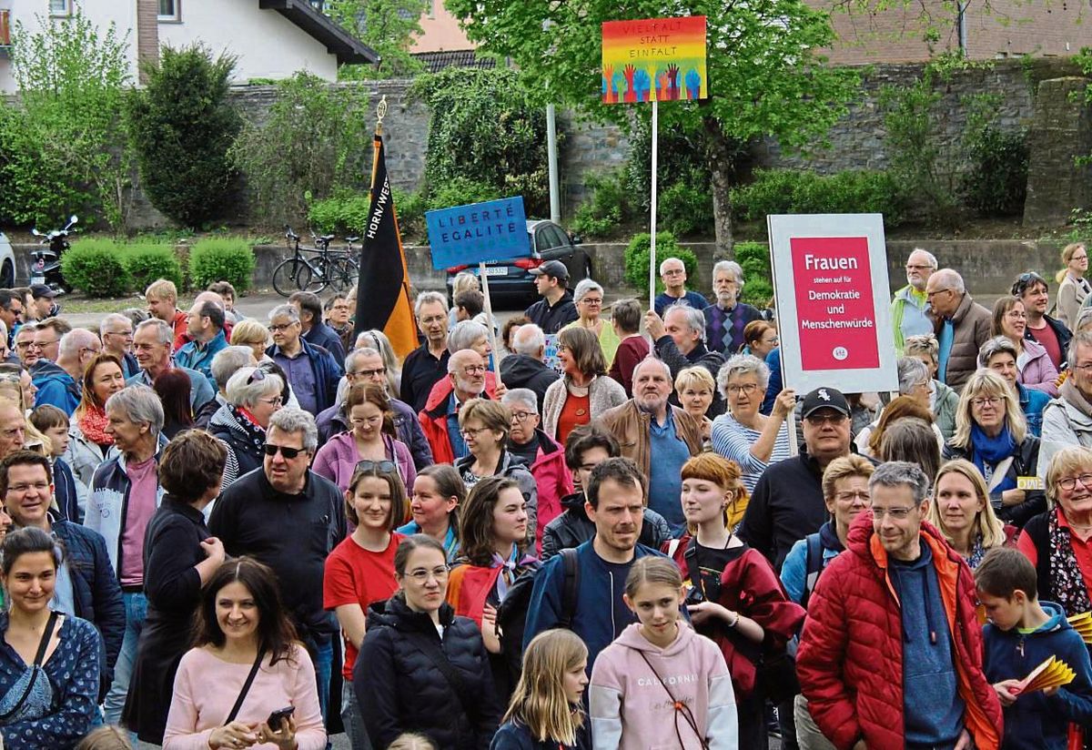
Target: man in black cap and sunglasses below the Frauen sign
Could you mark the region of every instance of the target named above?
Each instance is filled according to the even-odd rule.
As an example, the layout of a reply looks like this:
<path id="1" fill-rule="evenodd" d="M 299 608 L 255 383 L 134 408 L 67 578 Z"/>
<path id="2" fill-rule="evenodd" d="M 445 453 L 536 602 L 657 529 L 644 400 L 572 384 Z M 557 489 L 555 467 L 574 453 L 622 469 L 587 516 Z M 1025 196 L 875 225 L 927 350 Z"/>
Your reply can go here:
<path id="1" fill-rule="evenodd" d="M 850 402 L 833 388 L 804 396 L 804 447 L 799 455 L 771 464 L 755 485 L 739 536 L 781 570 L 797 540 L 827 521 L 822 473 L 851 451 Z"/>

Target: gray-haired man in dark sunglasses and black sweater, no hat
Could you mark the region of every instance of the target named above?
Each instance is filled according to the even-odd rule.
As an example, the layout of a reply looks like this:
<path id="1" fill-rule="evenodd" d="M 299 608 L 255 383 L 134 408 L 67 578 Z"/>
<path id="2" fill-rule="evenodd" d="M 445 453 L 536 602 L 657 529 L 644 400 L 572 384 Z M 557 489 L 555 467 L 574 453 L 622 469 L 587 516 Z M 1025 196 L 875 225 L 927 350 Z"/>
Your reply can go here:
<path id="1" fill-rule="evenodd" d="M 337 486 L 308 468 L 318 444 L 314 417 L 297 408 L 275 412 L 265 432 L 261 469 L 224 490 L 209 531 L 230 557 L 249 555 L 273 569 L 285 609 L 300 640 L 316 654 L 325 715 L 337 623 L 322 606 L 322 576 L 327 556 L 347 529 Z"/>

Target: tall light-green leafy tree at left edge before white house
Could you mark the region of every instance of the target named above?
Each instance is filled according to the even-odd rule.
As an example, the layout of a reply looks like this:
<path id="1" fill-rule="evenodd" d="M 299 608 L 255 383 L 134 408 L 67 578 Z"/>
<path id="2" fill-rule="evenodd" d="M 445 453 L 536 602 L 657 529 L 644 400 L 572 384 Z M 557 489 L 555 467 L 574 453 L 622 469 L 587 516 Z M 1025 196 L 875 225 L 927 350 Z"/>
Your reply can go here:
<path id="1" fill-rule="evenodd" d="M 71 212 L 124 226 L 129 153 L 120 117 L 129 83 L 127 38 L 81 14 L 16 25 L 19 97 L 0 108 L 0 204 L 17 223 L 50 225 Z"/>

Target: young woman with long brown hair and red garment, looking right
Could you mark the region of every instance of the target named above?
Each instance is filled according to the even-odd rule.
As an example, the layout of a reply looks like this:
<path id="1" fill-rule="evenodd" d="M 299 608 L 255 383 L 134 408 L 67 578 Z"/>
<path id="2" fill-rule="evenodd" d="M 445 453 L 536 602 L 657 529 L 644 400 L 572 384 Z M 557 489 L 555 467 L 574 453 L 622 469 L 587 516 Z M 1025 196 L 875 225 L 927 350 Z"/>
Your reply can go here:
<path id="1" fill-rule="evenodd" d="M 461 521 L 463 564 L 451 571 L 448 603 L 482 630 L 498 698 L 508 702 L 519 664 L 501 654 L 497 609 L 509 587 L 538 560 L 527 552 L 527 503 L 514 479 L 495 476 L 478 481 L 466 499 Z M 530 548 L 530 551 L 534 551 Z"/>

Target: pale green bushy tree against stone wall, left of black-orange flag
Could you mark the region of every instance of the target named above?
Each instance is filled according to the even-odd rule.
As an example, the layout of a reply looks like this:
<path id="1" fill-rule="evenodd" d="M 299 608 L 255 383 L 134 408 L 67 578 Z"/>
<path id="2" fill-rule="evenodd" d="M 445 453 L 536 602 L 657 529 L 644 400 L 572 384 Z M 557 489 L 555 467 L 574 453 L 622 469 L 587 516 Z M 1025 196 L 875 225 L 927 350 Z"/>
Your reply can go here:
<path id="1" fill-rule="evenodd" d="M 367 92 L 357 84 L 331 86 L 302 72 L 281 81 L 268 115 L 245 122 L 229 152 L 246 175 L 254 213 L 298 222 L 312 200 L 366 186 L 367 106 Z"/>

